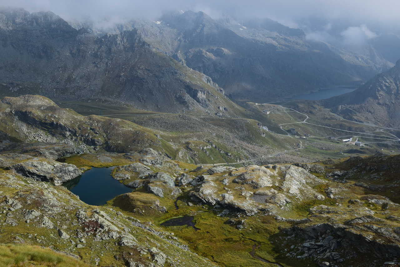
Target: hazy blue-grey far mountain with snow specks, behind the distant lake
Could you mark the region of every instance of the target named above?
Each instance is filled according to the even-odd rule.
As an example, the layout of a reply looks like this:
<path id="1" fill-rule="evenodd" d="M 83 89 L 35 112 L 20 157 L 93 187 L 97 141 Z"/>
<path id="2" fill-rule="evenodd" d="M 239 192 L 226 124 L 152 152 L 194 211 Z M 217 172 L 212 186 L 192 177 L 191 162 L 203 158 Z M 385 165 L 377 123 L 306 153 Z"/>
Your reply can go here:
<path id="1" fill-rule="evenodd" d="M 192 11 L 131 24 L 152 47 L 210 76 L 236 99 L 282 98 L 353 83 L 382 68 L 373 62 L 348 62 L 327 44 L 310 42 L 301 30 L 277 22 L 245 25 Z"/>

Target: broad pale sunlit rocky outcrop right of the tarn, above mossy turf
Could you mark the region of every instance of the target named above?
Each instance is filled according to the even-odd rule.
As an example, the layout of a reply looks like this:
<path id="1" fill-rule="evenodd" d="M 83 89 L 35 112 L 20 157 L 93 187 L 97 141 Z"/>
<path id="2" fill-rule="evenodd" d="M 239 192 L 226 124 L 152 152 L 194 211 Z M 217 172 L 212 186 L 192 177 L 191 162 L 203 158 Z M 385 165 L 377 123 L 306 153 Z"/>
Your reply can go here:
<path id="1" fill-rule="evenodd" d="M 246 168 L 230 168 L 229 176 L 224 175 L 230 178 L 219 178 L 221 184 L 217 183 L 216 174 L 225 171 L 222 168 L 213 169 L 212 175 L 203 174 L 194 178 L 191 184 L 195 187 L 189 194 L 192 200 L 221 205 L 233 212 L 252 216 L 260 211 L 275 214 L 278 210 L 289 209 L 288 204 L 292 202 L 325 198 L 312 188 L 321 184 L 322 180 L 297 166 L 276 165 L 275 168 L 266 168 L 249 165 Z M 221 187 L 229 186 L 230 182 L 236 187 L 224 187 L 225 191 L 222 190 Z M 272 186 L 280 190 L 271 188 Z"/>

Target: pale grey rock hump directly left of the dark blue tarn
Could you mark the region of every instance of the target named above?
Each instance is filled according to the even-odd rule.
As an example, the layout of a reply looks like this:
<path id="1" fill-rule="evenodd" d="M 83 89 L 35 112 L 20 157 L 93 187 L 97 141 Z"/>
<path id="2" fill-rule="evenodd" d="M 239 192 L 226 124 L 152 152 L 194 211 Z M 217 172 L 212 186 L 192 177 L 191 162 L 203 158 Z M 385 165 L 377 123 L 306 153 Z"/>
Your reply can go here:
<path id="1" fill-rule="evenodd" d="M 61 185 L 63 182 L 72 180 L 82 172 L 72 164 L 60 163 L 54 160 L 40 160 L 32 158 L 28 161 L 17 163 L 8 167 L 18 174 L 33 178 L 35 180 L 53 182 Z"/>

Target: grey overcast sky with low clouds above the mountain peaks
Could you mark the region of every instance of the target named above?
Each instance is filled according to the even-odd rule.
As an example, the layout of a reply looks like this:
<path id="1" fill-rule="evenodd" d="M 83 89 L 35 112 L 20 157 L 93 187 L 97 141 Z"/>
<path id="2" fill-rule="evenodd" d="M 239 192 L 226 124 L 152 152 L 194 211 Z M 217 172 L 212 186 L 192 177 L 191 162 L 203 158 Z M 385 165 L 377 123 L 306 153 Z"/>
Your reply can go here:
<path id="1" fill-rule="evenodd" d="M 107 17 L 118 21 L 140 16 L 155 19 L 166 10 L 204 11 L 212 18 L 223 15 L 238 19 L 271 18 L 302 28 L 310 39 L 329 41 L 342 36 L 350 43 L 374 38 L 377 31 L 400 30 L 400 0 L 1 0 L 1 3 L 30 12 L 50 10 L 66 20 Z"/>

